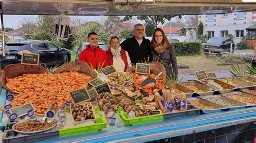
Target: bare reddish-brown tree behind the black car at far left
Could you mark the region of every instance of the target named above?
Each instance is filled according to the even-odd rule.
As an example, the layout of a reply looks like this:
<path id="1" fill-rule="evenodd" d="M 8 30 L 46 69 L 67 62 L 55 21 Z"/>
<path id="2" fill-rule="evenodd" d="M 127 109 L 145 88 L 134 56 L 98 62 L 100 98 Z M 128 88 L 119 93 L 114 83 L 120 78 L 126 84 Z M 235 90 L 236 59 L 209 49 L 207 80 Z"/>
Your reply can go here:
<path id="1" fill-rule="evenodd" d="M 33 35 L 35 35 L 38 31 L 38 26 L 36 25 L 36 19 L 33 18 L 23 18 L 23 20 L 19 21 L 19 28 L 21 28 L 22 37 L 24 39 L 32 39 Z"/>

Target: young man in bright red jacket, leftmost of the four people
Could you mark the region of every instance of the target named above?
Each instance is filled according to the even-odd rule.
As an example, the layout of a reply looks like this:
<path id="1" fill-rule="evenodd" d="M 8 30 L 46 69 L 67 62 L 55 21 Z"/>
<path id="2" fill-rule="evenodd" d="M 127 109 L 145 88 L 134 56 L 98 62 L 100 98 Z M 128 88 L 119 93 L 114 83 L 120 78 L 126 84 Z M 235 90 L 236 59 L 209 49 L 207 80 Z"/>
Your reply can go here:
<path id="1" fill-rule="evenodd" d="M 89 66 L 93 66 L 94 69 L 98 67 L 107 66 L 106 52 L 99 48 L 99 38 L 97 33 L 91 32 L 87 36 L 87 41 L 90 45 L 87 45 L 85 49 L 79 55 L 79 61 L 87 62 Z"/>

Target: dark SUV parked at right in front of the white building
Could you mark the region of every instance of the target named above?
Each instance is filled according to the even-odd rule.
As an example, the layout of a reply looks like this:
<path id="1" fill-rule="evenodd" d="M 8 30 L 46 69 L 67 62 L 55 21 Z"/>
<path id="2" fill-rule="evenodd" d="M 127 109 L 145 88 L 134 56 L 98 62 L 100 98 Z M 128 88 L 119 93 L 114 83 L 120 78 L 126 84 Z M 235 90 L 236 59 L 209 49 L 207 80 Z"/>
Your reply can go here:
<path id="1" fill-rule="evenodd" d="M 234 42 L 229 37 L 212 37 L 203 44 L 204 52 L 208 52 L 208 48 L 222 48 L 224 52 L 230 52 L 232 44 L 232 53 L 234 53 Z"/>

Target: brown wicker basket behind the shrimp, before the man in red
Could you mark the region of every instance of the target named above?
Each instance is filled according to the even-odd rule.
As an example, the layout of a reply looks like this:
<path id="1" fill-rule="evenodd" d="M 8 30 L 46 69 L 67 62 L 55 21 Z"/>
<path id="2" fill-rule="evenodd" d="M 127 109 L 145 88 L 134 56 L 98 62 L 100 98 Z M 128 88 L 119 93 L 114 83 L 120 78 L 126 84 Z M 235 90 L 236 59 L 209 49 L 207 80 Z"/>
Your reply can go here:
<path id="1" fill-rule="evenodd" d="M 52 74 L 64 73 L 65 71 L 77 71 L 78 73 L 86 74 L 91 77 L 97 77 L 96 73 L 87 65 L 86 62 L 66 62 L 58 67 Z"/>

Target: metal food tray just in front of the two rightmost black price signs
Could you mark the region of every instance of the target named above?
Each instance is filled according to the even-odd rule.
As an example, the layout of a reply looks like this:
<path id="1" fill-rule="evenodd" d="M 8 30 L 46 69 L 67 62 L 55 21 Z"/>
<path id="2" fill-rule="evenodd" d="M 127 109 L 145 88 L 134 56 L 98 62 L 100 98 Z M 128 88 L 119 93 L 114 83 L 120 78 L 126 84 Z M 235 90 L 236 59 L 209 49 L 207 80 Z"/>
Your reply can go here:
<path id="1" fill-rule="evenodd" d="M 219 81 L 215 78 L 207 78 L 205 80 L 201 80 L 202 82 L 204 82 L 206 85 L 207 83 L 210 83 L 208 86 L 213 88 L 214 90 L 217 90 L 219 91 L 220 93 L 225 93 L 225 92 L 231 92 L 231 91 L 234 91 L 235 89 L 238 89 L 237 87 L 235 87 L 234 85 L 231 85 L 231 84 L 228 84 L 228 83 L 225 83 L 225 82 L 222 82 L 222 81 Z M 214 85 L 211 84 L 210 81 L 213 81 L 217 84 L 219 84 L 221 87 L 224 88 L 224 90 L 221 90 L 219 89 L 218 87 L 215 87 Z M 226 88 L 226 89 L 225 89 Z"/>

